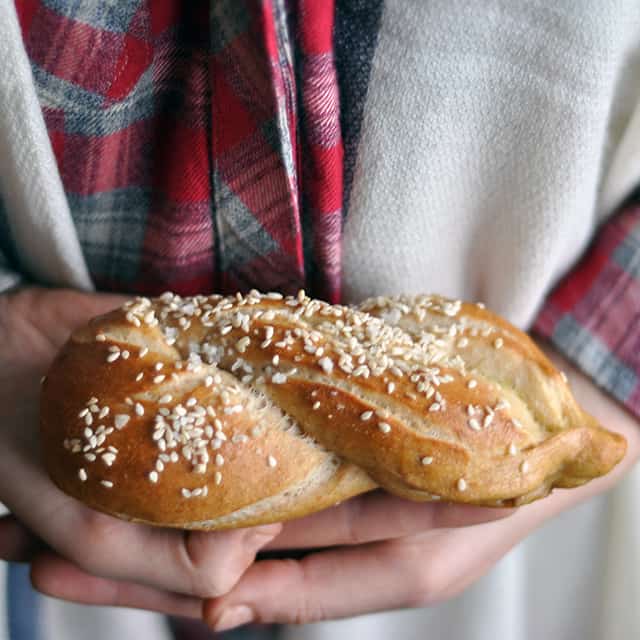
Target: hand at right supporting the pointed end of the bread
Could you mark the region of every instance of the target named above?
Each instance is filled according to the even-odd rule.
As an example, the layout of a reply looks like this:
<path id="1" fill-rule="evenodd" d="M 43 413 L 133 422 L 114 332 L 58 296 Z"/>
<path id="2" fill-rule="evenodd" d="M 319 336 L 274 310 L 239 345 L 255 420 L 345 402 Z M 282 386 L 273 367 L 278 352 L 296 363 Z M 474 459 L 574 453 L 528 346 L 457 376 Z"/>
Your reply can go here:
<path id="1" fill-rule="evenodd" d="M 640 455 L 640 424 L 546 350 L 568 375 L 582 407 L 626 437 L 627 455 L 611 473 L 578 489 L 556 490 L 503 519 L 454 529 L 443 527 L 447 521 L 459 524 L 462 512 L 468 518 L 474 508 L 411 503 L 382 493 L 355 498 L 286 524 L 266 547 L 334 548 L 300 560 L 256 562 L 228 594 L 205 603 L 205 620 L 220 631 L 251 621 L 308 623 L 432 605 L 463 591 L 545 520 L 614 486 Z M 487 520 L 486 510 L 477 511 L 484 512 L 478 521 Z"/>

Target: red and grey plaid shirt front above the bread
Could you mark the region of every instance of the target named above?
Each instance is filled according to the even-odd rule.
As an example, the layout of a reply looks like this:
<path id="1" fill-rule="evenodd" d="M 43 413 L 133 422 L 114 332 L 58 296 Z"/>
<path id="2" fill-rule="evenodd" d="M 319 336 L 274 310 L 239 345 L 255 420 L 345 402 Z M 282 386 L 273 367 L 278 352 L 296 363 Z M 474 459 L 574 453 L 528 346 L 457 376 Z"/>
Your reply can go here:
<path id="1" fill-rule="evenodd" d="M 98 288 L 339 299 L 333 1 L 16 8 Z"/>

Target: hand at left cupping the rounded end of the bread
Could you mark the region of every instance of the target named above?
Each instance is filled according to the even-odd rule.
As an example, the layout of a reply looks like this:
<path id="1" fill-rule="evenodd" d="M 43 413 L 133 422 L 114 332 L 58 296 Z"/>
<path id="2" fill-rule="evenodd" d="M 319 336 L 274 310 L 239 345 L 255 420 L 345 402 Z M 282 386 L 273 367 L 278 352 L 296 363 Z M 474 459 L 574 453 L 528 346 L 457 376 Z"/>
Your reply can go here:
<path id="1" fill-rule="evenodd" d="M 281 525 L 182 532 L 132 524 L 62 493 L 39 458 L 39 380 L 69 334 L 122 304 L 105 294 L 25 289 L 0 295 L 0 559 L 31 563 L 49 595 L 201 617 Z"/>

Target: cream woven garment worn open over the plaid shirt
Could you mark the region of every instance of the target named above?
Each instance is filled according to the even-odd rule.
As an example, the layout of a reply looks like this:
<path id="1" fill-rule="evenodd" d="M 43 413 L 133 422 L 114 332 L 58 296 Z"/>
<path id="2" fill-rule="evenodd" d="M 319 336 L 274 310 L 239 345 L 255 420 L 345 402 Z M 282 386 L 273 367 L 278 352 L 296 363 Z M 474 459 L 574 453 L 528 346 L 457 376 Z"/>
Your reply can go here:
<path id="1" fill-rule="evenodd" d="M 437 291 L 482 299 L 527 326 L 597 224 L 640 183 L 639 45 L 637 0 L 388 0 L 345 227 L 347 299 Z M 90 288 L 7 1 L 0 60 L 0 194 L 25 271 Z M 0 256 L 0 288 L 15 281 Z M 290 637 L 638 637 L 628 599 L 638 595 L 640 569 L 611 562 L 611 550 L 640 519 L 608 511 L 605 500 L 531 536 L 454 603 Z M 634 502 L 637 491 L 624 503 Z M 550 535 L 560 548 L 566 538 L 572 553 L 550 558 Z M 558 596 L 546 602 L 545 620 L 527 618 L 525 603 L 550 593 L 545 563 L 579 581 L 605 561 L 615 600 L 596 603 L 601 591 L 585 587 L 569 598 L 579 616 Z M 57 621 L 51 638 L 82 637 L 78 620 L 104 615 L 47 607 Z M 147 623 L 161 633 L 157 621 L 137 620 L 137 637 L 147 637 Z"/>

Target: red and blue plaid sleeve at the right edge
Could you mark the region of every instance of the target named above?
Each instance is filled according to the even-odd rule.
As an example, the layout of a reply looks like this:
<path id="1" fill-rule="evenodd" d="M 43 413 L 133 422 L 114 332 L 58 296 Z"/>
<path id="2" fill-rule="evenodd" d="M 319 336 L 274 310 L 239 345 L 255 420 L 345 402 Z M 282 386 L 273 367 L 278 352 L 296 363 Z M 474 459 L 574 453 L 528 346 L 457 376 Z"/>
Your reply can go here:
<path id="1" fill-rule="evenodd" d="M 640 417 L 640 199 L 597 234 L 534 330 Z"/>

